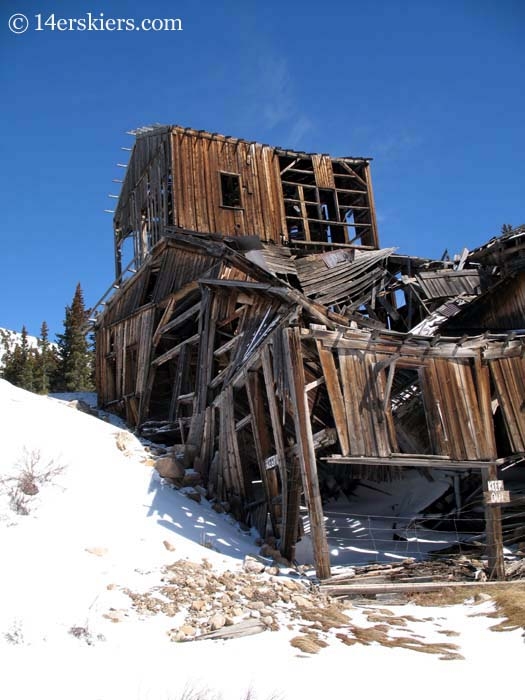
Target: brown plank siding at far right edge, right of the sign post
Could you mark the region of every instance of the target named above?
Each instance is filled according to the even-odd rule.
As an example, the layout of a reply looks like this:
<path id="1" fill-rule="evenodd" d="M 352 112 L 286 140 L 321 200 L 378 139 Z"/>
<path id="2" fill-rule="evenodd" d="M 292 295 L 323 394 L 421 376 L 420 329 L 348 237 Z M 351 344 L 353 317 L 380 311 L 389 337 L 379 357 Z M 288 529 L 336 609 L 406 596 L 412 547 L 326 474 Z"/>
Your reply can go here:
<path id="1" fill-rule="evenodd" d="M 525 452 L 525 358 L 489 362 L 496 396 L 514 452 Z"/>

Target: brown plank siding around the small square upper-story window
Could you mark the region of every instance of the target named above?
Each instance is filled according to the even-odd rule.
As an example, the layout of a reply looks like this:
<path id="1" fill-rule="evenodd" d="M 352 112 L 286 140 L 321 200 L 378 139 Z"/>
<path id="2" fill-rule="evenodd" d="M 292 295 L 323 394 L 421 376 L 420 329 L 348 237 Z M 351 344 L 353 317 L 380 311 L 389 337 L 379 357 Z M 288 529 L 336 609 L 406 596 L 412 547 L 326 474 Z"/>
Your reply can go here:
<path id="1" fill-rule="evenodd" d="M 176 226 L 281 241 L 284 209 L 273 148 L 178 129 L 172 148 Z M 222 206 L 220 172 L 240 176 L 241 207 Z"/>

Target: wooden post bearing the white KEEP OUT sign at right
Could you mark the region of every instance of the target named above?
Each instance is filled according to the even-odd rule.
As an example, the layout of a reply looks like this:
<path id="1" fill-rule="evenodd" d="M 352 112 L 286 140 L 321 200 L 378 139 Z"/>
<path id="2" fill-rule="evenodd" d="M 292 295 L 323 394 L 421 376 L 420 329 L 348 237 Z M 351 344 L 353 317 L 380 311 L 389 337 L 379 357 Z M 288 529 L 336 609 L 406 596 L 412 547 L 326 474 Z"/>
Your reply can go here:
<path id="1" fill-rule="evenodd" d="M 494 436 L 494 419 L 492 417 L 492 402 L 490 396 L 489 368 L 477 357 L 474 361 L 476 374 L 476 388 L 478 392 L 479 409 L 483 424 L 482 435 L 487 451 L 486 458 L 497 458 L 496 439 Z M 498 468 L 491 464 L 488 469 L 482 470 L 481 480 L 483 492 L 488 490 L 487 482 L 497 480 Z M 503 531 L 501 528 L 501 506 L 485 504 L 485 525 L 487 538 L 487 556 L 490 578 L 502 581 L 505 579 L 505 560 L 503 557 Z"/>

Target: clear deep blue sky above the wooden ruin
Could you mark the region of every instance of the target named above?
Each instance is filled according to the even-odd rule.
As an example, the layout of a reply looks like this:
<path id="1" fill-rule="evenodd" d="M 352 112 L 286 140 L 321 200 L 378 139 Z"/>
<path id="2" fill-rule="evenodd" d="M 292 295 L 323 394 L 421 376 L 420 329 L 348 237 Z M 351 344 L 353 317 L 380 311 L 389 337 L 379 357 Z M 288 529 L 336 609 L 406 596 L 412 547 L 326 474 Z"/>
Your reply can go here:
<path id="1" fill-rule="evenodd" d="M 90 3 L 1 3 L 0 327 L 60 332 L 78 281 L 87 306 L 109 287 L 115 164 L 154 122 L 372 157 L 380 241 L 402 252 L 525 223 L 522 0 Z M 35 31 L 88 12 L 183 31 Z"/>

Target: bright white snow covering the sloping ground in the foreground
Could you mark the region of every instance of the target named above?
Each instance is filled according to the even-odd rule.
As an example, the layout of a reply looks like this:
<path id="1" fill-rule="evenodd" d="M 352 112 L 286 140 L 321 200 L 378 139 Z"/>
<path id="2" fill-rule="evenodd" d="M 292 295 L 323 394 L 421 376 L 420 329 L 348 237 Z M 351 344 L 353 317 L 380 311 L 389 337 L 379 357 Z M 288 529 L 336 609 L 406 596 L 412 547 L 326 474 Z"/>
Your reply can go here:
<path id="1" fill-rule="evenodd" d="M 173 618 L 141 618 L 121 588 L 148 590 L 164 565 L 183 558 L 240 570 L 244 556 L 257 551 L 253 537 L 208 503 L 165 486 L 133 437 L 121 452 L 120 428 L 63 401 L 0 380 L 0 430 L 4 492 L 31 456 L 39 457 L 37 469 L 61 468 L 30 498 L 28 515 L 0 496 L 0 697 L 178 700 L 184 689 L 207 688 L 224 700 L 241 700 L 249 689 L 254 700 L 363 692 L 432 700 L 459 689 L 486 695 L 502 675 L 517 677 L 521 632 L 491 631 L 495 620 L 480 614 L 492 609 L 489 602 L 391 608 L 420 620 L 411 630 L 423 639 L 458 644 L 464 660 L 377 643 L 349 647 L 335 636 L 310 656 L 290 645 L 297 630 L 286 626 L 230 641 L 174 643 L 166 633 Z M 104 617 L 111 609 L 123 611 L 121 622 Z M 365 610 L 356 606 L 349 616 L 364 623 Z M 449 639 L 447 630 L 459 636 Z"/>

